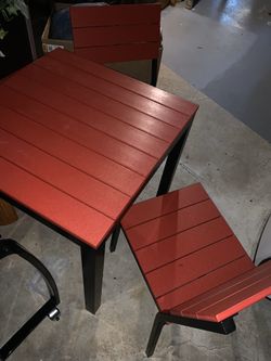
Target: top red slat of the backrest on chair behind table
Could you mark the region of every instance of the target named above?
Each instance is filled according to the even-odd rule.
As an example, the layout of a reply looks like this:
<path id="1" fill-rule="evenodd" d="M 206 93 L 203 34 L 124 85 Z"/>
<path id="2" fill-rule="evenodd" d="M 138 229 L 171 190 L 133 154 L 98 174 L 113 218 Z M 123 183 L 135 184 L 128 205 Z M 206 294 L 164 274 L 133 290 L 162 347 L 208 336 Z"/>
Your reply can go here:
<path id="1" fill-rule="evenodd" d="M 73 7 L 73 27 L 159 23 L 160 4 L 118 4 L 116 7 Z"/>

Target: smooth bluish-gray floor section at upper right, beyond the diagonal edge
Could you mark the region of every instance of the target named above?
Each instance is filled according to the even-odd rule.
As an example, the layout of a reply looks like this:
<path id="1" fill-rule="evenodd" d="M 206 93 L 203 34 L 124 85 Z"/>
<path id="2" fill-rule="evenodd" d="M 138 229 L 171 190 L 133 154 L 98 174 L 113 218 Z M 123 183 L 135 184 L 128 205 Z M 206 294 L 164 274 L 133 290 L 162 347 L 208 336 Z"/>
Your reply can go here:
<path id="1" fill-rule="evenodd" d="M 181 2 L 162 23 L 163 62 L 271 142 L 271 1 Z"/>

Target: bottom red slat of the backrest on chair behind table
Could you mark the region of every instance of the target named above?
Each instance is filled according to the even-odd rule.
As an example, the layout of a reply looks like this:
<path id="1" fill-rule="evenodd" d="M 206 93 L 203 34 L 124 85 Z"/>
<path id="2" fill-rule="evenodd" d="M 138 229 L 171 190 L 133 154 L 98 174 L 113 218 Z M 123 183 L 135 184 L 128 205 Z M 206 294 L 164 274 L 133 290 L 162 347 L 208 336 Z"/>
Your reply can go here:
<path id="1" fill-rule="evenodd" d="M 101 64 L 158 57 L 159 42 L 77 48 L 75 54 Z"/>

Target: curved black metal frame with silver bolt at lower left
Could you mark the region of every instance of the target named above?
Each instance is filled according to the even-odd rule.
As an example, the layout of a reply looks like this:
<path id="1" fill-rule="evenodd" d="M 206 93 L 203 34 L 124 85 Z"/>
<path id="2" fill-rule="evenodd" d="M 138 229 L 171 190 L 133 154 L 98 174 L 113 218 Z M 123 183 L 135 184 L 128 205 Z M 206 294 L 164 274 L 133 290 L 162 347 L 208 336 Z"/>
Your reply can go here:
<path id="1" fill-rule="evenodd" d="M 60 311 L 56 308 L 60 304 L 59 291 L 48 269 L 16 241 L 11 238 L 0 240 L 0 259 L 13 254 L 24 258 L 41 273 L 50 299 L 0 348 L 1 361 L 5 360 L 46 317 L 49 317 L 52 321 L 59 321 L 60 317 Z"/>

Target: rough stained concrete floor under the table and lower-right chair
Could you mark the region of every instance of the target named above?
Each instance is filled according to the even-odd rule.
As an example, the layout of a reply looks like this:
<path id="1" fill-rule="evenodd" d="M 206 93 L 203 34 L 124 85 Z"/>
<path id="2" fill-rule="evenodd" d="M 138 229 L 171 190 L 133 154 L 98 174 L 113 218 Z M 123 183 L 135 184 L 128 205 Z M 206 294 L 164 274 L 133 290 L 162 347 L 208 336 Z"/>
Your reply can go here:
<path id="1" fill-rule="evenodd" d="M 171 189 L 201 181 L 250 256 L 270 212 L 271 146 L 171 69 L 162 66 L 158 87 L 199 104 Z M 140 198 L 155 195 L 162 169 Z M 146 360 L 144 349 L 155 305 L 121 235 L 115 254 L 106 250 L 102 306 L 83 309 L 79 248 L 30 217 L 1 227 L 39 257 L 61 295 L 62 318 L 44 320 L 11 361 Z M 30 268 L 10 257 L 0 262 L 0 343 L 41 305 L 46 288 Z M 167 325 L 152 360 L 268 361 L 271 354 L 271 304 L 262 300 L 236 318 L 237 331 L 222 336 Z"/>

